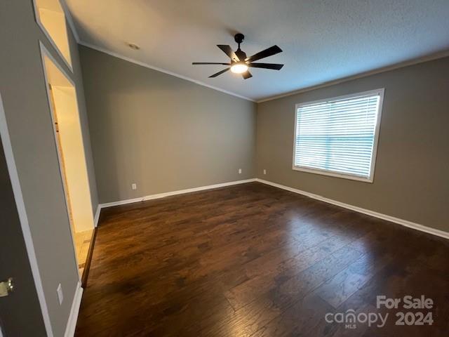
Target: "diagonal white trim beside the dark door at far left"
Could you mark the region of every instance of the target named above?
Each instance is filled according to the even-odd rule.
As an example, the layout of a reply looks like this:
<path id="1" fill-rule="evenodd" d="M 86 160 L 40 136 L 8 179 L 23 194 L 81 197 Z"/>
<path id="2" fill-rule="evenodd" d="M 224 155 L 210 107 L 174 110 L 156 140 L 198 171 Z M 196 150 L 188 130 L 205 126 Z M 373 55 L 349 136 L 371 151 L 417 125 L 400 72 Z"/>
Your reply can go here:
<path id="1" fill-rule="evenodd" d="M 17 168 L 15 166 L 13 147 L 11 145 L 11 138 L 9 137 L 8 124 L 6 123 L 6 115 L 3 107 L 3 101 L 1 100 L 1 95 L 0 95 L 0 137 L 1 143 L 3 144 L 4 147 L 6 165 L 8 166 L 11 185 L 13 186 L 15 204 L 17 205 L 17 211 L 19 213 L 20 226 L 22 227 L 23 239 L 25 240 L 25 246 L 27 248 L 29 265 L 31 266 L 34 285 L 36 286 L 36 293 L 37 297 L 39 298 L 39 305 L 41 306 L 43 324 L 45 325 L 47 336 L 53 337 L 53 329 L 51 328 L 50 315 L 48 314 L 45 293 L 43 293 L 41 274 L 39 272 L 39 265 L 37 264 L 36 251 L 34 250 L 31 230 L 29 229 L 27 211 L 25 209 L 25 202 L 23 201 L 22 189 L 20 187 L 20 180 L 17 173 Z"/>

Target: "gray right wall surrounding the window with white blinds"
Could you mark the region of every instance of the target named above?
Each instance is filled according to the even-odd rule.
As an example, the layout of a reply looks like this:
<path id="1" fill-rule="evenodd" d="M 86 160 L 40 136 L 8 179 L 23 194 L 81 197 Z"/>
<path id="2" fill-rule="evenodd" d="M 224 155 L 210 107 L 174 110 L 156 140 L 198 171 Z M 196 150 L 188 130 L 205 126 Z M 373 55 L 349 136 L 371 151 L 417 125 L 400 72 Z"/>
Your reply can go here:
<path id="1" fill-rule="evenodd" d="M 295 103 L 385 88 L 374 182 L 292 170 Z M 257 106 L 257 178 L 449 231 L 449 58 Z M 263 175 L 267 169 L 267 175 Z"/>

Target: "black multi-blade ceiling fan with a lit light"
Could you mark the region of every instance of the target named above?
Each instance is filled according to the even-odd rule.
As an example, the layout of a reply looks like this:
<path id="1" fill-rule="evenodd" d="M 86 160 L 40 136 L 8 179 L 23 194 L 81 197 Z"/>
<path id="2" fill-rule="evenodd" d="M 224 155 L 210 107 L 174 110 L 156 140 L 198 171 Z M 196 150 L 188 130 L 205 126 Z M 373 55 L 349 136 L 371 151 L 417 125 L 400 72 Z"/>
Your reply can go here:
<path id="1" fill-rule="evenodd" d="M 265 49 L 264 51 L 255 53 L 253 56 L 250 56 L 248 58 L 246 57 L 246 53 L 240 49 L 240 44 L 243 42 L 243 39 L 245 39 L 245 36 L 243 34 L 235 34 L 234 40 L 237 44 L 239 44 L 239 48 L 237 48 L 235 52 L 232 50 L 231 46 L 225 44 L 217 44 L 217 47 L 229 56 L 231 62 L 193 62 L 192 65 L 229 65 L 230 67 L 227 67 L 225 70 L 210 75 L 210 77 L 217 77 L 218 75 L 231 70 L 236 74 L 241 74 L 243 79 L 249 79 L 250 77 L 253 77 L 253 75 L 248 71 L 248 67 L 281 70 L 283 65 L 279 65 L 276 63 L 254 63 L 254 61 L 260 60 L 261 58 L 267 58 L 268 56 L 281 53 L 281 48 L 279 48 L 278 46 L 272 46 Z"/>

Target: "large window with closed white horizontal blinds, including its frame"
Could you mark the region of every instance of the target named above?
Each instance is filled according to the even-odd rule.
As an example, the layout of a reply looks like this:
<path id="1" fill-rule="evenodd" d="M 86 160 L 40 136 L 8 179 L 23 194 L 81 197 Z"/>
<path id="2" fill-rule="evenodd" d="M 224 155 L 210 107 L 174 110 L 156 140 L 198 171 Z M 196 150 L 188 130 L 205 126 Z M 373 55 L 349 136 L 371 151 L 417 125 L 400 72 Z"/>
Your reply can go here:
<path id="1" fill-rule="evenodd" d="M 296 105 L 293 169 L 373 182 L 384 89 Z"/>

